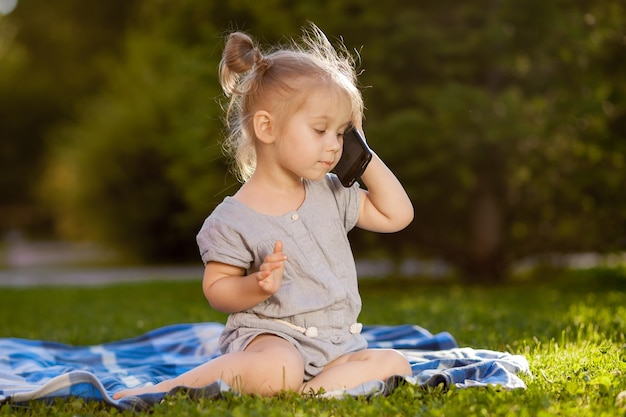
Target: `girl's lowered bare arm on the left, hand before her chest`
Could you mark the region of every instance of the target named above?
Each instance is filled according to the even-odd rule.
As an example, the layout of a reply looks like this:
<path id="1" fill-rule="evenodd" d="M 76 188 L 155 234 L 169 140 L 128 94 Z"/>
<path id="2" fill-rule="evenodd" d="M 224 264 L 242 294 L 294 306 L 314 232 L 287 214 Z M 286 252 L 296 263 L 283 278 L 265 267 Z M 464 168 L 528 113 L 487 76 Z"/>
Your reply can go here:
<path id="1" fill-rule="evenodd" d="M 245 270 L 220 262 L 208 262 L 204 268 L 202 289 L 211 307 L 223 313 L 247 310 L 275 294 L 283 279 L 287 256 L 282 242 L 265 257 L 259 271 L 244 275 Z"/>

